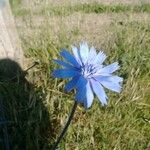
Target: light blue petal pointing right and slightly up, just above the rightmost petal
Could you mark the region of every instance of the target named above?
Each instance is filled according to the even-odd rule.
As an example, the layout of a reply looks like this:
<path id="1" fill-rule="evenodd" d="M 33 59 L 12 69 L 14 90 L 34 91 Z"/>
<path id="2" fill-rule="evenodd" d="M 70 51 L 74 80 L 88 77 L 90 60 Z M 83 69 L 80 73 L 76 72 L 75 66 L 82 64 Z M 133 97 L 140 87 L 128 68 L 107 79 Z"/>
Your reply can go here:
<path id="1" fill-rule="evenodd" d="M 99 70 L 99 73 L 100 74 L 103 74 L 103 73 L 109 73 L 110 74 L 110 73 L 115 72 L 118 69 L 119 69 L 118 62 L 114 62 L 114 63 L 112 63 L 112 64 L 110 64 L 110 65 L 108 65 L 108 66 L 106 66 L 104 68 L 101 68 Z"/>

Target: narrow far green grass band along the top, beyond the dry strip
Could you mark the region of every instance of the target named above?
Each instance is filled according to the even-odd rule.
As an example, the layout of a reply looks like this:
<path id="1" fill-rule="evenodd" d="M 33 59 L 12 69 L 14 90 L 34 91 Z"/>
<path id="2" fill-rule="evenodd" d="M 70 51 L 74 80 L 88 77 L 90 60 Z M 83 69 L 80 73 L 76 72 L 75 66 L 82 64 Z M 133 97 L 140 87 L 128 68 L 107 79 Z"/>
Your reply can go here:
<path id="1" fill-rule="evenodd" d="M 31 13 L 29 8 L 16 8 L 13 9 L 15 16 L 26 16 Z M 140 5 L 103 5 L 99 3 L 93 4 L 76 4 L 76 5 L 62 5 L 62 6 L 46 6 L 40 7 L 38 10 L 34 10 L 32 13 L 35 15 L 57 15 L 57 16 L 66 16 L 71 15 L 74 12 L 83 12 L 83 13 L 124 13 L 124 12 L 150 12 L 150 3 L 143 3 Z"/>

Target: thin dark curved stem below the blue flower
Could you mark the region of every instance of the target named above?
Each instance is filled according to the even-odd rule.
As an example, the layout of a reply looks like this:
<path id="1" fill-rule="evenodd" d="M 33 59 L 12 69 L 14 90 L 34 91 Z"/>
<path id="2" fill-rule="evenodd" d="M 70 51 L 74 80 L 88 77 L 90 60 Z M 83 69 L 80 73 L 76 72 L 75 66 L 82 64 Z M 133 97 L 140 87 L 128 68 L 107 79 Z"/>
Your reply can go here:
<path id="1" fill-rule="evenodd" d="M 67 121 L 66 125 L 64 126 L 64 128 L 63 128 L 61 134 L 59 135 L 57 141 L 56 141 L 56 142 L 54 143 L 54 145 L 52 146 L 52 149 L 51 149 L 51 150 L 56 150 L 56 148 L 57 148 L 58 144 L 60 143 L 60 141 L 62 140 L 64 134 L 67 132 L 67 129 L 68 129 L 70 123 L 71 123 L 71 120 L 72 120 L 72 118 L 73 118 L 73 116 L 74 116 L 74 113 L 75 113 L 75 110 L 76 110 L 76 108 L 77 108 L 77 104 L 78 104 L 78 103 L 75 101 L 75 103 L 74 103 L 74 105 L 73 105 L 73 107 L 72 107 L 72 110 L 71 110 L 71 112 L 70 112 L 70 116 L 69 116 L 69 118 L 68 118 L 68 121 Z"/>

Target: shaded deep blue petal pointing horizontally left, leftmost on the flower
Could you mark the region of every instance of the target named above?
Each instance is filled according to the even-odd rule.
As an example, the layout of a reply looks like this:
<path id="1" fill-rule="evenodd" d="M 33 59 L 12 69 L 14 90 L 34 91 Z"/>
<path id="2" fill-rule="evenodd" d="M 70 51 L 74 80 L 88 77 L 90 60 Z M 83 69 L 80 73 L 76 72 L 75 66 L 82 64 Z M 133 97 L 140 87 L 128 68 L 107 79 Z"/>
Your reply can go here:
<path id="1" fill-rule="evenodd" d="M 55 78 L 70 78 L 79 75 L 79 72 L 71 69 L 57 69 L 52 75 Z"/>

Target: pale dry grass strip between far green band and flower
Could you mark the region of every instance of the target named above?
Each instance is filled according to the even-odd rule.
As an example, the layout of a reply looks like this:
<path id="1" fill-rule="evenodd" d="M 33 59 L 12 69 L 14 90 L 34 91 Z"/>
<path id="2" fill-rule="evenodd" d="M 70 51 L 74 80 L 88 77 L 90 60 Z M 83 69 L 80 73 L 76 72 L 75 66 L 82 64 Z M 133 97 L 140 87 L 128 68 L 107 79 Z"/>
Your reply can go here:
<path id="1" fill-rule="evenodd" d="M 111 24 L 126 24 L 127 22 L 149 22 L 148 13 L 120 13 L 120 14 L 84 14 L 73 13 L 69 16 L 29 16 L 16 18 L 16 24 L 22 37 L 30 39 L 39 37 L 43 32 L 42 27 L 48 28 L 51 38 L 59 43 L 60 35 L 65 34 L 68 39 L 78 43 L 89 41 L 92 45 L 101 47 L 112 41 L 112 33 L 109 30 Z M 22 30 L 24 29 L 24 30 Z M 70 37 L 74 35 L 74 37 Z M 76 44 L 74 43 L 74 44 Z"/>

